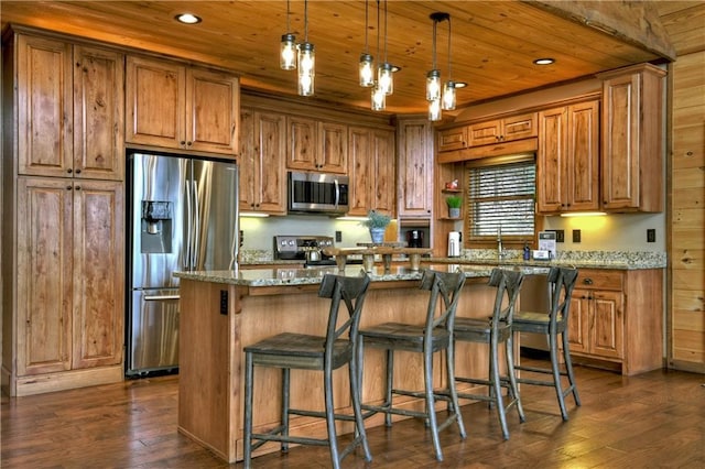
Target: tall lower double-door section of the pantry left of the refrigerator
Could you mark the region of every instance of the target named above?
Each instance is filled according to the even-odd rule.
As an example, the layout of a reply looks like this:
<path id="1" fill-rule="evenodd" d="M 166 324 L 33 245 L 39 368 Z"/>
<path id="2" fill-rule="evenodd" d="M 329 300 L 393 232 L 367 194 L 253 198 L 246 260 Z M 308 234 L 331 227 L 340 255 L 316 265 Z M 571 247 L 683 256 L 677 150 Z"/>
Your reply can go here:
<path id="1" fill-rule="evenodd" d="M 17 319 L 3 337 L 10 340 L 7 391 L 28 395 L 121 381 L 122 183 L 19 177 L 17 220 L 15 284 L 6 292 L 17 302 Z"/>

